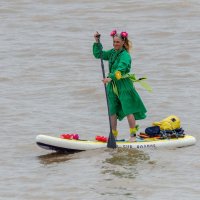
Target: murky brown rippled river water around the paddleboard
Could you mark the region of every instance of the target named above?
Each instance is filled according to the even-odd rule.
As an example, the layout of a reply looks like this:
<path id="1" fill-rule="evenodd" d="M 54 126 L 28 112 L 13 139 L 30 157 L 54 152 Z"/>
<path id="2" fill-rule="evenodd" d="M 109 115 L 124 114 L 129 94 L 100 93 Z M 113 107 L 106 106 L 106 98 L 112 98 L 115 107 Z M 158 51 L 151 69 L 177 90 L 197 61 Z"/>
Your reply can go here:
<path id="1" fill-rule="evenodd" d="M 0 20 L 0 199 L 200 198 L 199 0 L 1 0 Z M 136 85 L 148 109 L 141 129 L 175 114 L 195 146 L 71 155 L 36 146 L 38 134 L 108 135 L 91 47 L 98 31 L 110 49 L 113 29 L 129 33 L 132 72 L 153 87 Z M 119 131 L 128 137 L 126 120 Z"/>

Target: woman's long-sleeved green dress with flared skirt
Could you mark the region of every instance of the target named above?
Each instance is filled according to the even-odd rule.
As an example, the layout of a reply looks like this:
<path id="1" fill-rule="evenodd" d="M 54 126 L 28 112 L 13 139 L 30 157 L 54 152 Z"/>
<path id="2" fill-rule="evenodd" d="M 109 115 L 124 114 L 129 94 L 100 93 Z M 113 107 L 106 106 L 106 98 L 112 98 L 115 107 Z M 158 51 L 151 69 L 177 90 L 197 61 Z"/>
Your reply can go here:
<path id="1" fill-rule="evenodd" d="M 93 55 L 100 58 L 100 48 L 98 43 L 93 44 Z M 102 48 L 102 45 L 101 45 Z M 109 75 L 112 79 L 107 84 L 110 115 L 116 114 L 119 120 L 125 116 L 133 114 L 136 120 L 146 118 L 146 108 L 129 78 L 117 79 L 115 72 L 120 71 L 122 76 L 129 73 L 131 69 L 131 56 L 125 50 L 111 49 L 103 51 L 103 60 L 109 62 Z M 113 85 L 117 88 L 117 93 L 113 90 Z"/>

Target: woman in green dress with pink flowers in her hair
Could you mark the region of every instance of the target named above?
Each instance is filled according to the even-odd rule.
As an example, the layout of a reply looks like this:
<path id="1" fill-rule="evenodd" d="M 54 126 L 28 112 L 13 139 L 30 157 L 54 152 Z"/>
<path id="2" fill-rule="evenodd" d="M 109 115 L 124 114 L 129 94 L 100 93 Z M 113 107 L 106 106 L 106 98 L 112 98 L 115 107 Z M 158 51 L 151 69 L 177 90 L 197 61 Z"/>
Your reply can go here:
<path id="1" fill-rule="evenodd" d="M 134 142 L 139 126 L 136 120 L 146 118 L 146 108 L 134 88 L 132 80 L 127 76 L 131 69 L 131 41 L 127 32 L 117 33 L 116 30 L 110 34 L 113 38 L 112 49 L 105 51 L 99 43 L 99 33 L 94 34 L 93 55 L 95 58 L 101 57 L 109 63 L 109 74 L 103 79 L 108 93 L 109 114 L 111 117 L 112 133 L 117 139 L 117 120 L 127 117 L 130 128 L 129 141 Z"/>

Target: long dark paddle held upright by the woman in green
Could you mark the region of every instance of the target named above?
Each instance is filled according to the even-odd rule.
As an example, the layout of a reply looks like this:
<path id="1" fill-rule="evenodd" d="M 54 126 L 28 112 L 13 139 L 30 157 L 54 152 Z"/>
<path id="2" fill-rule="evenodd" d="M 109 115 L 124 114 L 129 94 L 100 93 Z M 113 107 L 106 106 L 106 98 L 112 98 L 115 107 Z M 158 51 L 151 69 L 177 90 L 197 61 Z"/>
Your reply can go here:
<path id="1" fill-rule="evenodd" d="M 102 47 L 100 45 L 100 36 L 101 35 L 98 33 L 97 38 L 98 38 L 98 44 L 99 44 L 99 50 L 100 50 L 101 69 L 102 69 L 103 78 L 106 78 L 105 70 L 104 70 L 104 64 L 103 64 L 103 52 L 102 52 Z M 108 103 L 108 92 L 106 90 L 106 84 L 104 84 L 104 88 L 105 88 L 105 94 L 106 94 L 106 102 L 107 102 L 109 125 L 110 125 L 110 134 L 109 134 L 109 137 L 108 137 L 107 147 L 115 149 L 117 147 L 117 145 L 116 145 L 115 137 L 114 137 L 114 135 L 112 133 L 110 108 L 109 108 L 109 103 Z"/>

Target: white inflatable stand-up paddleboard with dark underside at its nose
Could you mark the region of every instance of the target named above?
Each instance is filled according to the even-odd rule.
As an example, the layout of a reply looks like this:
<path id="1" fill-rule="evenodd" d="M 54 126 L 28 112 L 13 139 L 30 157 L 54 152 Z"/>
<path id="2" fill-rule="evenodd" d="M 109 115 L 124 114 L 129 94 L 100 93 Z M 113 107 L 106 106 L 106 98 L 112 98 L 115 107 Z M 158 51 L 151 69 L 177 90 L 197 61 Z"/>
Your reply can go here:
<path id="1" fill-rule="evenodd" d="M 117 147 L 121 148 L 178 148 L 194 145 L 196 139 L 191 135 L 185 135 L 182 138 L 173 139 L 157 139 L 137 138 L 136 142 L 129 141 L 116 141 Z M 106 142 L 91 141 L 91 140 L 75 140 L 75 139 L 63 139 L 59 137 L 52 137 L 47 135 L 38 135 L 36 137 L 36 143 L 41 148 L 53 151 L 65 151 L 65 152 L 76 152 L 85 151 L 91 149 L 98 149 L 107 147 Z"/>

